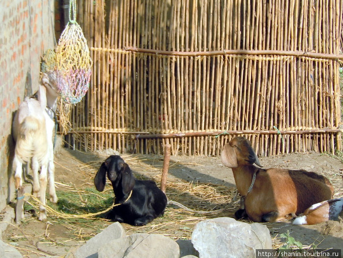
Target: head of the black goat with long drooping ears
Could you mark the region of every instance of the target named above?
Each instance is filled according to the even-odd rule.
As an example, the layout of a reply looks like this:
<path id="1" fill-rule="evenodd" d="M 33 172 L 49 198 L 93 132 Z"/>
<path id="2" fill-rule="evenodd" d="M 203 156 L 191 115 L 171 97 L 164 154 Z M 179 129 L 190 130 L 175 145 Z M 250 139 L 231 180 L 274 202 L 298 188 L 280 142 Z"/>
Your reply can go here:
<path id="1" fill-rule="evenodd" d="M 103 191 L 107 178 L 112 182 L 113 188 L 121 187 L 123 194 L 129 193 L 135 185 L 135 178 L 129 168 L 119 155 L 111 155 L 101 164 L 94 184 L 98 191 Z"/>

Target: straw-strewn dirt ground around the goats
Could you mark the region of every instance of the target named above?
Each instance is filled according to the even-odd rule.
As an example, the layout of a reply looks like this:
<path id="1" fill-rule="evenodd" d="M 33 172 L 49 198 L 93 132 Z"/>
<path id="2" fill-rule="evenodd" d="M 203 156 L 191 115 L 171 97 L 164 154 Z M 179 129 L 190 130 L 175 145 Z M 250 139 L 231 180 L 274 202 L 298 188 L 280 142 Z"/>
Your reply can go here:
<path id="1" fill-rule="evenodd" d="M 59 155 L 55 156 L 56 190 L 60 210 L 70 209 L 71 213 L 83 211 L 90 202 L 87 199 L 90 195 L 83 195 L 86 191 L 91 192 L 91 195 L 95 195 L 100 200 L 106 199 L 107 197 L 102 197 L 102 195 L 107 194 L 109 205 L 111 204 L 113 192 L 109 186 L 107 192 L 102 193 L 93 192 L 91 189 L 95 189 L 93 179 L 101 162 L 113 153 L 112 150 L 103 153 L 82 153 L 63 149 Z M 123 155 L 123 158 L 127 160 L 136 177 L 153 179 L 159 184 L 163 165 L 162 156 Z M 342 160 L 336 156 L 317 153 L 291 154 L 261 157 L 260 162 L 265 168 L 305 169 L 325 175 L 335 187 L 335 197 L 343 197 L 343 164 Z M 71 197 L 63 197 L 67 193 L 80 201 L 76 204 L 73 203 Z M 162 233 L 175 240 L 190 239 L 197 222 L 216 216 L 233 217 L 234 211 L 238 208 L 239 199 L 235 197 L 235 194 L 232 171 L 221 164 L 219 157 L 172 156 L 167 188 L 169 199 L 192 206 L 197 210 L 218 207 L 225 207 L 226 210 L 218 214 L 199 215 L 168 206 L 163 217 L 155 219 L 147 226 L 132 227 L 126 224 L 123 226 L 127 234 L 153 232 Z M 68 198 L 70 200 L 66 200 Z M 15 204 L 12 205 L 15 206 Z M 106 206 L 95 204 L 91 206 L 98 211 L 106 209 Z M 41 222 L 37 217 L 27 213 L 21 225 L 12 224 L 7 227 L 2 239 L 16 247 L 23 257 L 63 256 L 111 223 L 101 217 L 92 220 L 64 219 L 50 213 L 48 213 L 48 221 Z M 304 248 L 343 249 L 342 221 L 329 221 L 311 226 L 293 226 L 289 221 L 265 225 L 270 229 L 273 248 L 285 243 L 286 239 L 281 238 L 280 234 L 289 231 L 290 235 L 300 241 Z"/>

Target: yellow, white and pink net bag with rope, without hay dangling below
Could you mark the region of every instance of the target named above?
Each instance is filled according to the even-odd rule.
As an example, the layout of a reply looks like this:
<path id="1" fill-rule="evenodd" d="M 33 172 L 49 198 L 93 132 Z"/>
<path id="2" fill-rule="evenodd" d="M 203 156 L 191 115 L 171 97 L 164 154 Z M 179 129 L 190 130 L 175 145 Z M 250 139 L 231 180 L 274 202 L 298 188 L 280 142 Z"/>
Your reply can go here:
<path id="1" fill-rule="evenodd" d="M 69 104 L 80 102 L 89 89 L 92 59 L 87 40 L 76 22 L 75 0 L 69 2 L 69 22 L 55 48 L 53 65 L 48 65 L 48 69 L 52 66 L 57 75 L 57 89 L 62 99 Z"/>

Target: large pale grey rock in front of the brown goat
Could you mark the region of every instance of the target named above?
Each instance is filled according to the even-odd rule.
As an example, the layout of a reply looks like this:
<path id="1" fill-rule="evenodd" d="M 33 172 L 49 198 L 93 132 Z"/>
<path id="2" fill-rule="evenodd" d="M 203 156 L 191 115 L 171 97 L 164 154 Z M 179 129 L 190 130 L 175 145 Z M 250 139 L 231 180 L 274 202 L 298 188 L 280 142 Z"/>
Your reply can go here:
<path id="1" fill-rule="evenodd" d="M 255 257 L 256 249 L 271 249 L 270 232 L 265 225 L 227 217 L 196 224 L 192 243 L 199 258 Z"/>

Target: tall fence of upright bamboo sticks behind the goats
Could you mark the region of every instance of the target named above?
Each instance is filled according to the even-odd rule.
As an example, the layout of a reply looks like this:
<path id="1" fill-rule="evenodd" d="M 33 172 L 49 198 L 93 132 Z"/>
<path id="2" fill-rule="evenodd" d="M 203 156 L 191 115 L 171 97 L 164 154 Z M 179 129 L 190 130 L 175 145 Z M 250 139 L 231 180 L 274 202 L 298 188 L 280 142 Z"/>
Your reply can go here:
<path id="1" fill-rule="evenodd" d="M 84 0 L 90 90 L 72 111 L 81 150 L 259 155 L 341 150 L 343 0 Z"/>

